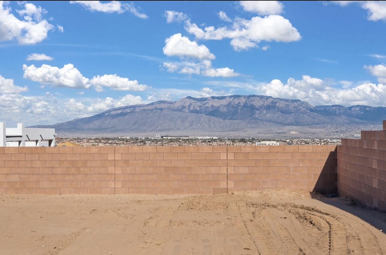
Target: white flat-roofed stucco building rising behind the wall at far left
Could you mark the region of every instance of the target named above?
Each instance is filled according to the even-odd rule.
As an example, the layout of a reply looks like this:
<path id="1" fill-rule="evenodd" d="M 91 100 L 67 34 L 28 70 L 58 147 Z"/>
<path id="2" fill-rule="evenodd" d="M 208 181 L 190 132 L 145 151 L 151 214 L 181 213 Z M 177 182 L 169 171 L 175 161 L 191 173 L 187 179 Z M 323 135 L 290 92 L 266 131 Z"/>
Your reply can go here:
<path id="1" fill-rule="evenodd" d="M 0 122 L 0 147 L 55 146 L 55 135 L 54 128 L 24 128 L 22 123 L 6 128 L 5 122 Z"/>

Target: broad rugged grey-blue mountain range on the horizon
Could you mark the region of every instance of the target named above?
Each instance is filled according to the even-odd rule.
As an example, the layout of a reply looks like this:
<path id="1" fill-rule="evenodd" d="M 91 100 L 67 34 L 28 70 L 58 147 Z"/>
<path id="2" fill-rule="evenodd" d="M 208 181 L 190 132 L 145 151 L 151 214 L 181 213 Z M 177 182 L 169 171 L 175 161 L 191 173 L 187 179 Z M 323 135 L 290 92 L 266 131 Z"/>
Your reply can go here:
<path id="1" fill-rule="evenodd" d="M 55 128 L 59 134 L 179 132 L 188 135 L 186 131 L 212 131 L 215 134 L 284 126 L 380 123 L 383 119 L 386 119 L 386 107 L 313 106 L 301 100 L 230 95 L 123 106 L 91 117 L 35 127 Z"/>

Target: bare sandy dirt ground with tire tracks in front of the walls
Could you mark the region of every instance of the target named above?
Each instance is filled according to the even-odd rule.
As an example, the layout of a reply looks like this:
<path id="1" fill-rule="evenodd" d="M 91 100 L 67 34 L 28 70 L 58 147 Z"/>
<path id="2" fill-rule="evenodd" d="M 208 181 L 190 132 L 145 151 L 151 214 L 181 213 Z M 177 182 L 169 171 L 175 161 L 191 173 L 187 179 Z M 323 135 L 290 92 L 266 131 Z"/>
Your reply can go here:
<path id="1" fill-rule="evenodd" d="M 386 254 L 386 214 L 272 189 L 221 195 L 1 195 L 1 255 Z"/>

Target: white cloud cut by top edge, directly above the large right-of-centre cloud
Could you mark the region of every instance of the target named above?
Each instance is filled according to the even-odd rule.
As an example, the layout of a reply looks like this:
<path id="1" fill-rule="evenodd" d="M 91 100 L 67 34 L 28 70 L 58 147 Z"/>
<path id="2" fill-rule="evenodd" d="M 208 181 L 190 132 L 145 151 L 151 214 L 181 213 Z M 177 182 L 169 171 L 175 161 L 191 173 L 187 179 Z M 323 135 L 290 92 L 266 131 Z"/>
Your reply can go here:
<path id="1" fill-rule="evenodd" d="M 280 14 L 283 12 L 283 4 L 279 1 L 239 1 L 247 12 L 255 12 L 259 15 Z"/>

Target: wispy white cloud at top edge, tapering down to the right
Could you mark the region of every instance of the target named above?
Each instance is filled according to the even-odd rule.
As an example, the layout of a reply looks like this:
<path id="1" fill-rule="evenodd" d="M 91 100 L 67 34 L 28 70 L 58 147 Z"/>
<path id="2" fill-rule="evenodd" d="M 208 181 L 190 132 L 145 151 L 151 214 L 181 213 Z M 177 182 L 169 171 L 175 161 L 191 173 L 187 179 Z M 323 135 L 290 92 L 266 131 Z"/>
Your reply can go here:
<path id="1" fill-rule="evenodd" d="M 110 1 L 107 3 L 102 3 L 100 1 L 70 1 L 70 3 L 80 3 L 86 9 L 90 11 L 97 12 L 107 12 L 113 13 L 117 12 L 119 14 L 129 11 L 135 16 L 141 19 L 147 19 L 148 16 L 144 13 L 140 13 L 137 8 L 134 6 L 134 3 L 121 3 L 119 1 Z"/>

